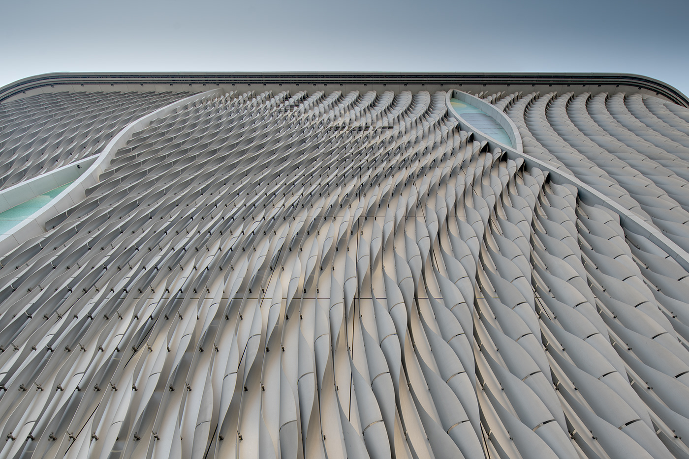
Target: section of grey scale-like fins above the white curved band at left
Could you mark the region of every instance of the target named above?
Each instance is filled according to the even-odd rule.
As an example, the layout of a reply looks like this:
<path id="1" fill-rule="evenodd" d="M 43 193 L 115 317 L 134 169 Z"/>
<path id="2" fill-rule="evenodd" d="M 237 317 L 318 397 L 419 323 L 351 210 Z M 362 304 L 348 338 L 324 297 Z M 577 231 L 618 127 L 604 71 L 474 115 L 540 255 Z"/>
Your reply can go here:
<path id="1" fill-rule="evenodd" d="M 183 98 L 172 92 L 57 92 L 0 105 L 0 188 L 100 153 L 128 122 Z"/>

